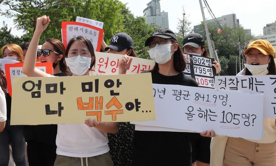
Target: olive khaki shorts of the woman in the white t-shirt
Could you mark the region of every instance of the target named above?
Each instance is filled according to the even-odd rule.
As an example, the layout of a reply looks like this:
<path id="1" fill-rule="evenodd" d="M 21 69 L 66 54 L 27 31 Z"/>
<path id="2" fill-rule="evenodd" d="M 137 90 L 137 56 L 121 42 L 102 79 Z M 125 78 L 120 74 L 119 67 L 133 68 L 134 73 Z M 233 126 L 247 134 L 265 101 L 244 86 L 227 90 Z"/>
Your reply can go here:
<path id="1" fill-rule="evenodd" d="M 87 157 L 69 157 L 57 154 L 54 166 L 113 166 L 109 152 L 98 156 Z"/>

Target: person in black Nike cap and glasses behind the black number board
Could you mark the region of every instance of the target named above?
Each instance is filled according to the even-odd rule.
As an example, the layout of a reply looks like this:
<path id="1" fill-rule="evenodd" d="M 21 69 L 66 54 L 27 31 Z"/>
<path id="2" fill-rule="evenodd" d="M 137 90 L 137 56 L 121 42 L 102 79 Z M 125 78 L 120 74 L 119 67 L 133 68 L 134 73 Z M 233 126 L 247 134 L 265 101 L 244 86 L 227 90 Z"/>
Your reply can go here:
<path id="1" fill-rule="evenodd" d="M 205 39 L 198 33 L 191 33 L 183 39 L 182 50 L 183 53 L 208 57 L 205 47 Z M 220 64 L 217 61 L 214 61 L 213 63 L 212 66 L 216 69 L 216 73 L 218 73 L 220 71 Z"/>

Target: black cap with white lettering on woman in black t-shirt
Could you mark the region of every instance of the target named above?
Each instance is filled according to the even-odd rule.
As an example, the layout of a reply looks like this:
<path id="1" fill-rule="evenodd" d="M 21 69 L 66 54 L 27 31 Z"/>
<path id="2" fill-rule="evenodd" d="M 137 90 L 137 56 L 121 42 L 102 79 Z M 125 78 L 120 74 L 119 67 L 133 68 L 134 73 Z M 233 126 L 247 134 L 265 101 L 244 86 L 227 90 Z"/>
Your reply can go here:
<path id="1" fill-rule="evenodd" d="M 145 46 L 149 46 L 152 38 L 154 38 L 155 36 L 160 37 L 160 38 L 164 38 L 164 39 L 170 39 L 173 38 L 174 40 L 177 41 L 177 37 L 176 35 L 173 33 L 172 30 L 168 29 L 168 28 L 161 28 L 161 29 L 157 29 L 155 30 L 151 36 L 146 39 L 145 41 Z"/>

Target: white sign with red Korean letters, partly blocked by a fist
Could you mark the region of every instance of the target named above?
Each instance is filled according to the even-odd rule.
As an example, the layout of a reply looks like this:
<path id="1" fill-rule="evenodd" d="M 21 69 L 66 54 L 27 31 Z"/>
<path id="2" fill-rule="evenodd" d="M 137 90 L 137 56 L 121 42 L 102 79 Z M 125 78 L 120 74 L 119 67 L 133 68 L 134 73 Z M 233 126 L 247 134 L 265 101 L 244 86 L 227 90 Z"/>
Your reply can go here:
<path id="1" fill-rule="evenodd" d="M 123 55 L 113 53 L 95 52 L 95 69 L 90 71 L 91 75 L 114 75 L 118 74 L 118 63 Z M 149 59 L 133 57 L 127 74 L 137 74 L 142 71 L 150 70 L 155 62 Z"/>

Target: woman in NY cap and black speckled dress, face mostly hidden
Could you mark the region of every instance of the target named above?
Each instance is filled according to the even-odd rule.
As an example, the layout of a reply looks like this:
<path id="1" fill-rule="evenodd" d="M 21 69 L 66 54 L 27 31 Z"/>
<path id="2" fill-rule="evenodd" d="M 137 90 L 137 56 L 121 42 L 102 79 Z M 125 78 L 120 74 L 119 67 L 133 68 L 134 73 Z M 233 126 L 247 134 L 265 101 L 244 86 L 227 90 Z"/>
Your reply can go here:
<path id="1" fill-rule="evenodd" d="M 107 50 L 109 50 L 109 53 L 136 57 L 133 50 L 133 40 L 126 33 L 114 35 L 111 38 L 110 45 L 105 47 L 105 51 Z M 108 134 L 108 145 L 115 166 L 131 165 L 134 127 L 129 122 L 119 122 L 116 134 Z"/>

